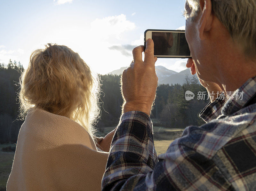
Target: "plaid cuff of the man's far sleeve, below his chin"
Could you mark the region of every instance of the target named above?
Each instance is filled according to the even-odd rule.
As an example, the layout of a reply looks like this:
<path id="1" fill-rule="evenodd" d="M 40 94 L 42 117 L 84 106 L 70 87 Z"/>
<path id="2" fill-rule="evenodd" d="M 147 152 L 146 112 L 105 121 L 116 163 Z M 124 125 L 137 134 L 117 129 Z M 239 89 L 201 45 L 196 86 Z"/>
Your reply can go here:
<path id="1" fill-rule="evenodd" d="M 201 117 L 206 123 L 216 119 L 221 115 L 221 108 L 225 105 L 226 99 L 215 99 L 212 103 L 209 102 L 206 107 L 201 111 L 199 117 Z"/>

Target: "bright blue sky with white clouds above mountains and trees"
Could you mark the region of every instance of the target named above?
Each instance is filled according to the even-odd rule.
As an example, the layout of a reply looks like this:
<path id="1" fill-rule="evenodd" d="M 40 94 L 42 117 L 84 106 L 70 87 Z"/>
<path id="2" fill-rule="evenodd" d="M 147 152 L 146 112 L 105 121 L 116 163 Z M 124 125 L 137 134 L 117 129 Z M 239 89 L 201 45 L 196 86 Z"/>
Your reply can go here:
<path id="1" fill-rule="evenodd" d="M 95 73 L 129 66 L 146 29 L 185 29 L 185 0 L 0 0 L 0 63 L 28 67 L 30 54 L 47 43 L 66 45 Z M 180 72 L 186 59 L 156 65 Z"/>

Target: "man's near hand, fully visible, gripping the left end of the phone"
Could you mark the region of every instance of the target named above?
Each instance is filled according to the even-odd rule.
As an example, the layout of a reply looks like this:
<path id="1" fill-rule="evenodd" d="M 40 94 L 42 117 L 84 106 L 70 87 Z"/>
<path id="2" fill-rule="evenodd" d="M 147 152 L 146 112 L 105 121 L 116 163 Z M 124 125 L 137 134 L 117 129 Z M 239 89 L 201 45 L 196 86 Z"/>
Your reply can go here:
<path id="1" fill-rule="evenodd" d="M 143 46 L 133 49 L 133 61 L 125 69 L 121 78 L 121 90 L 124 98 L 123 113 L 128 111 L 142 111 L 150 115 L 152 103 L 156 96 L 157 76 L 153 54 L 154 43 L 147 41 L 145 57 L 142 60 Z"/>

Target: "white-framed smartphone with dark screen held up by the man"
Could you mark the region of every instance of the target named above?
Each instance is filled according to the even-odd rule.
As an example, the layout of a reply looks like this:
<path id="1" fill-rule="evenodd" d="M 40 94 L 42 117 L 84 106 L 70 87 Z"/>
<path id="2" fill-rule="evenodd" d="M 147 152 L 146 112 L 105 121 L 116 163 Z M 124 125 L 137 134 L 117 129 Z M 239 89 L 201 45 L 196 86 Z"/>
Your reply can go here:
<path id="1" fill-rule="evenodd" d="M 148 38 L 154 41 L 154 56 L 157 58 L 192 58 L 185 30 L 147 29 L 144 32 L 144 51 Z"/>

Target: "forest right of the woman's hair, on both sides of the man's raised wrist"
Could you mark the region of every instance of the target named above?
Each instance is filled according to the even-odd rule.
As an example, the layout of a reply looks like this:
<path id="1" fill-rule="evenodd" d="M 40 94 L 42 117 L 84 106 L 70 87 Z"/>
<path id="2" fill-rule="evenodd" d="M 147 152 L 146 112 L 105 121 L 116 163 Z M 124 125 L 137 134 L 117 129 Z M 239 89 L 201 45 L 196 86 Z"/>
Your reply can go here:
<path id="1" fill-rule="evenodd" d="M 123 98 L 120 93 L 120 75 L 103 75 L 101 78 L 100 108 L 101 117 L 98 126 L 112 126 L 119 122 Z M 186 77 L 184 84 L 159 84 L 156 91 L 156 99 L 152 107 L 151 119 L 153 125 L 166 128 L 185 128 L 188 125 L 201 125 L 204 121 L 198 116 L 209 102 L 208 94 L 204 99 L 195 98 L 187 101 L 185 92 L 206 92 L 205 88 L 198 84 L 198 79 Z"/>

